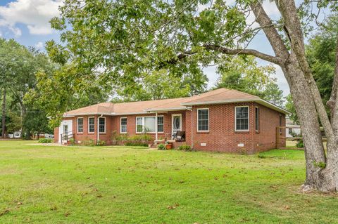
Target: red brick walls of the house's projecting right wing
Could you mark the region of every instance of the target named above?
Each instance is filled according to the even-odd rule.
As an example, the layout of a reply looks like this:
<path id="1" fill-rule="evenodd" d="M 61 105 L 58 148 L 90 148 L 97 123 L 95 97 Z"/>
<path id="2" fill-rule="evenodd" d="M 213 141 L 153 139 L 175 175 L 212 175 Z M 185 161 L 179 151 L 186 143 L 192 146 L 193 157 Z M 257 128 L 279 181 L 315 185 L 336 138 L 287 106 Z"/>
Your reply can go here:
<path id="1" fill-rule="evenodd" d="M 235 131 L 234 108 L 249 106 L 249 131 Z M 256 133 L 255 107 L 260 107 L 260 131 Z M 209 109 L 209 131 L 197 131 L 197 109 Z M 276 127 L 279 126 L 280 113 L 256 103 L 232 103 L 223 105 L 194 106 L 187 112 L 187 144 L 193 141 L 194 149 L 218 152 L 254 153 L 275 148 Z M 282 114 L 283 124 L 285 116 Z M 192 131 L 191 131 L 192 124 Z M 193 133 L 193 140 L 192 134 Z M 283 131 L 281 136 L 285 136 Z M 205 143 L 206 146 L 201 146 Z M 239 147 L 238 144 L 244 144 Z"/>

